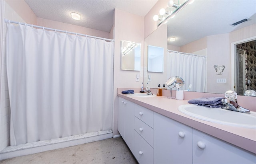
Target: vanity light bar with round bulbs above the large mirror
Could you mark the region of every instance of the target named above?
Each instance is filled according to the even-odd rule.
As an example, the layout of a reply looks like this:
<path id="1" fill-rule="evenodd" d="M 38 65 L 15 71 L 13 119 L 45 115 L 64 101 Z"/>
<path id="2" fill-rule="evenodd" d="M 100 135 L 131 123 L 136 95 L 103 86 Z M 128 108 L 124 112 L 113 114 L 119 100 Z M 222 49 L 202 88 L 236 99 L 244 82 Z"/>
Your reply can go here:
<path id="1" fill-rule="evenodd" d="M 154 15 L 153 20 L 157 21 L 157 25 L 166 23 L 168 19 L 174 18 L 180 10 L 182 10 L 186 5 L 191 4 L 194 0 L 182 0 L 183 4 L 180 4 L 181 0 L 175 0 L 178 3 L 175 3 L 174 0 L 170 0 L 167 4 L 167 8 L 161 8 L 159 15 Z M 174 11 L 172 11 L 174 9 Z"/>

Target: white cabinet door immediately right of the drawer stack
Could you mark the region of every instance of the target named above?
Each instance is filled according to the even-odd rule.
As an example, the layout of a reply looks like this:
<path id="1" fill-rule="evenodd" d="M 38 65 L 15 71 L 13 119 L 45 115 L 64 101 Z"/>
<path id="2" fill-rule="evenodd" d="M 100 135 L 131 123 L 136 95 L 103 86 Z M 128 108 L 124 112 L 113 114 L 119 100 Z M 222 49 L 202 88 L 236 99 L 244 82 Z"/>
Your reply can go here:
<path id="1" fill-rule="evenodd" d="M 154 112 L 154 163 L 192 164 L 193 129 Z"/>

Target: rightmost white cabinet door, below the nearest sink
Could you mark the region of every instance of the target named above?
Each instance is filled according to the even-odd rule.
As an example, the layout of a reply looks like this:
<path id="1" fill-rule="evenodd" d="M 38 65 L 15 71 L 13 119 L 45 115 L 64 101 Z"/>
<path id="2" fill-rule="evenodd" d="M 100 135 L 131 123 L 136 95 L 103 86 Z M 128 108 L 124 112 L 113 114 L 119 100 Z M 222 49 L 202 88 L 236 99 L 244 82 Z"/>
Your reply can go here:
<path id="1" fill-rule="evenodd" d="M 256 154 L 194 129 L 193 164 L 255 164 Z"/>

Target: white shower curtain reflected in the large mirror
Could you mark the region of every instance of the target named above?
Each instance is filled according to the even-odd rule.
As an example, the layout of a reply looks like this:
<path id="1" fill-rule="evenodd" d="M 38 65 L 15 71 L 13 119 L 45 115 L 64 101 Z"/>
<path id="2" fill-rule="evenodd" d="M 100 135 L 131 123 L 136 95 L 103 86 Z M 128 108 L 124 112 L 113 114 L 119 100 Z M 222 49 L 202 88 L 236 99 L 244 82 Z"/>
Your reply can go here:
<path id="1" fill-rule="evenodd" d="M 181 90 L 206 92 L 206 57 L 168 51 L 168 77 L 180 76 L 185 84 Z"/>

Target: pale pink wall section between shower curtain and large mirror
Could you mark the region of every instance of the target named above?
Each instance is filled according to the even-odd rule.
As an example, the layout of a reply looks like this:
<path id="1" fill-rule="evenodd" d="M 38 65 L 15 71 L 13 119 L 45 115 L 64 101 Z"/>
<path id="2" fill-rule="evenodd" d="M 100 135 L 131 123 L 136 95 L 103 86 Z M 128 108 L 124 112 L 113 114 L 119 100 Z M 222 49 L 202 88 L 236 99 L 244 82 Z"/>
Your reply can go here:
<path id="1" fill-rule="evenodd" d="M 115 9 L 114 13 L 114 135 L 117 131 L 117 88 L 139 88 L 143 82 L 143 68 L 140 71 L 121 70 L 121 40 L 141 43 L 141 65 L 144 61 L 144 18 L 129 12 Z M 136 82 L 136 74 L 139 74 L 139 82 Z"/>

